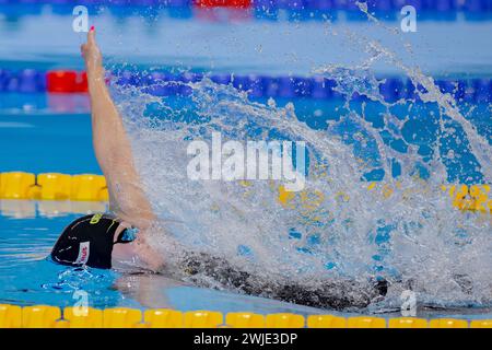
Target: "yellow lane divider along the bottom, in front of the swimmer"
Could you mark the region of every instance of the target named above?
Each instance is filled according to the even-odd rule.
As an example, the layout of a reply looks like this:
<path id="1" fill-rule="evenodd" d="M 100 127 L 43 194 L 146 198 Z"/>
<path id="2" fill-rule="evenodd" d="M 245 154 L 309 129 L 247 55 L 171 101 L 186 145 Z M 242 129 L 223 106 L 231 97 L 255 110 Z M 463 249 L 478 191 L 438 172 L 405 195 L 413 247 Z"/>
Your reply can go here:
<path id="1" fill-rule="evenodd" d="M 492 319 L 255 314 L 0 304 L 0 328 L 492 328 Z"/>

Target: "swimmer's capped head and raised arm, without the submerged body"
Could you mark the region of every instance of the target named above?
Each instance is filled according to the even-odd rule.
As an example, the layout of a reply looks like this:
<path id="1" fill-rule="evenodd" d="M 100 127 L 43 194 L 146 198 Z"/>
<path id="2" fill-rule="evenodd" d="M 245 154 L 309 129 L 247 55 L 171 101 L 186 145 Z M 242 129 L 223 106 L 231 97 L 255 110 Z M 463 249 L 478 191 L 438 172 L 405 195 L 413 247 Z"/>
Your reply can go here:
<path id="1" fill-rule="evenodd" d="M 155 217 L 141 188 L 121 117 L 106 86 L 94 27 L 81 51 L 91 100 L 93 147 L 106 177 L 112 213 L 72 222 L 56 243 L 51 258 L 73 266 L 107 269 L 130 265 L 159 271 L 164 261 L 149 244 Z"/>

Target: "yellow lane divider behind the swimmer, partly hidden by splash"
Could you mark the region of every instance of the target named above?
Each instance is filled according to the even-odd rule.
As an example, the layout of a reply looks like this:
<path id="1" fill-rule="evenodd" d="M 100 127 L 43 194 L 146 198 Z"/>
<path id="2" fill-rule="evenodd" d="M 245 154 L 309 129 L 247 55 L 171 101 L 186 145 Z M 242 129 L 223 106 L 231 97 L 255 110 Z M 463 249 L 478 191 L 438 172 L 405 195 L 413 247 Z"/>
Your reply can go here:
<path id="1" fill-rule="evenodd" d="M 367 191 L 379 194 L 385 200 L 393 197 L 399 189 L 399 183 L 394 185 L 367 183 Z M 447 192 L 454 208 L 464 211 L 492 212 L 490 185 L 443 185 L 441 190 Z M 278 200 L 285 208 L 293 208 L 297 198 L 303 208 L 316 210 L 325 200 L 325 194 L 290 192 L 283 186 L 278 188 Z M 350 200 L 342 192 L 336 194 L 341 200 Z M 81 174 L 68 175 L 60 173 L 32 174 L 24 172 L 0 173 L 0 199 L 27 200 L 70 200 L 70 201 L 108 201 L 109 195 L 106 178 L 102 175 Z M 295 206 L 294 206 L 295 207 Z"/>

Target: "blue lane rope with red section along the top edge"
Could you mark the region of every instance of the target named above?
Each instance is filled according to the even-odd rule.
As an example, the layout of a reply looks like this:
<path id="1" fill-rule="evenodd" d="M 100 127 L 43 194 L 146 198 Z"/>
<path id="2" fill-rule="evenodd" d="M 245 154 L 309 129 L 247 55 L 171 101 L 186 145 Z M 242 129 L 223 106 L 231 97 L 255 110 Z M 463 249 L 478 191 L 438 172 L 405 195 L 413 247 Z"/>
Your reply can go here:
<path id="1" fill-rule="evenodd" d="M 399 21 L 400 10 L 411 4 L 418 11 L 419 21 L 490 21 L 492 0 L 360 0 L 367 4 L 370 13 L 383 21 Z M 39 15 L 46 0 L 0 0 L 0 13 L 7 16 Z M 55 14 L 70 15 L 72 8 L 84 4 L 91 13 L 108 9 L 117 16 L 148 15 L 149 11 L 167 13 L 173 19 L 188 20 L 202 10 L 235 8 L 244 12 L 244 19 L 258 21 L 364 21 L 355 0 L 57 0 L 49 3 Z M 199 11 L 195 11 L 198 9 Z M 213 10 L 213 9 L 212 9 Z M 286 13 L 286 16 L 285 16 Z M 342 14 L 344 13 L 344 15 Z M 236 13 L 237 14 L 237 13 Z"/>

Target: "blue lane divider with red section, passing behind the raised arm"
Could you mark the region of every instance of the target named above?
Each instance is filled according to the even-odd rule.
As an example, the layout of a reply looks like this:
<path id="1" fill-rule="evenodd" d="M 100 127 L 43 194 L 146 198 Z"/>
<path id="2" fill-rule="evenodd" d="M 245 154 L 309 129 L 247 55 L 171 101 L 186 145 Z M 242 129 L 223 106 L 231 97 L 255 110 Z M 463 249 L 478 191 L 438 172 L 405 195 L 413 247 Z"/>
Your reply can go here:
<path id="1" fill-rule="evenodd" d="M 247 91 L 250 97 L 314 98 L 336 100 L 340 93 L 337 82 L 325 77 L 291 77 L 263 74 L 214 73 L 203 75 L 196 72 L 173 74 L 164 71 L 141 73 L 138 71 L 115 71 L 107 81 L 118 85 L 138 86 L 155 96 L 189 95 L 187 83 L 209 78 L 218 84 L 232 84 L 241 91 Z M 113 79 L 112 79 L 113 78 Z M 457 101 L 472 103 L 492 103 L 492 79 L 436 80 L 443 93 L 452 94 Z M 414 86 L 408 79 L 387 78 L 379 84 L 384 100 L 394 103 L 400 98 L 419 100 L 418 91 L 425 92 L 421 85 Z M 0 69 L 0 93 L 49 93 L 74 94 L 87 92 L 85 72 L 75 70 Z M 354 94 L 353 100 L 366 100 Z"/>

